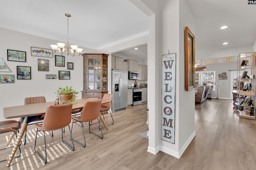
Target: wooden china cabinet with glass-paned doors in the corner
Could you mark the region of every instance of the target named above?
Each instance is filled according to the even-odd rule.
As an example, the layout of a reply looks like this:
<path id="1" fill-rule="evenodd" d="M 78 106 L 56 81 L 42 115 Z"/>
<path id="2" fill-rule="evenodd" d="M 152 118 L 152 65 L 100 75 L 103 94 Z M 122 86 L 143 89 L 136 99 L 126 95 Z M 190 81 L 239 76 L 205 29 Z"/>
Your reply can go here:
<path id="1" fill-rule="evenodd" d="M 102 99 L 108 93 L 108 54 L 84 53 L 82 98 Z"/>

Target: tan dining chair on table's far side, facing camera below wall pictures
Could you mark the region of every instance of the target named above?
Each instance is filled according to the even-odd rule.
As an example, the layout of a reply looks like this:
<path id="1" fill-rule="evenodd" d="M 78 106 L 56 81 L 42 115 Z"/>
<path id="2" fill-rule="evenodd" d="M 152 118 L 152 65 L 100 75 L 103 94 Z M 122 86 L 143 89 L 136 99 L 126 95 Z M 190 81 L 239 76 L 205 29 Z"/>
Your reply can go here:
<path id="1" fill-rule="evenodd" d="M 29 97 L 29 98 L 25 98 L 24 100 L 24 105 L 27 104 L 36 104 L 36 103 L 45 103 L 45 97 L 44 96 L 38 96 L 38 97 Z M 24 119 L 24 117 L 23 117 Z M 35 117 L 30 117 L 30 119 L 32 119 L 30 122 L 34 121 L 42 121 L 44 120 L 44 115 L 40 115 L 40 116 L 35 116 Z M 26 137 L 27 137 L 27 129 L 24 135 L 24 145 L 26 145 Z M 53 137 L 53 132 L 52 132 L 52 137 Z"/>

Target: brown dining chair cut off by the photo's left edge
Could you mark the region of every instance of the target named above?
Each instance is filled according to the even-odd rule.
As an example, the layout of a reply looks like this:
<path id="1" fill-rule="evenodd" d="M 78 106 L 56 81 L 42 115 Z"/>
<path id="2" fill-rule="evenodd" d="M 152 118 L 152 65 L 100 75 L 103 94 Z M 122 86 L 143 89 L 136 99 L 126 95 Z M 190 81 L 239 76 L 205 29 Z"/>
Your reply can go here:
<path id="1" fill-rule="evenodd" d="M 8 133 L 8 132 L 13 132 L 15 134 L 15 137 L 17 138 L 17 131 L 18 129 L 20 129 L 20 122 L 16 121 L 16 120 L 8 120 L 8 121 L 0 121 L 0 134 L 2 133 Z M 12 138 L 10 138 L 9 140 L 11 140 Z M 6 145 L 10 145 L 10 141 L 8 141 L 8 144 Z M 4 150 L 4 149 L 8 149 L 10 147 L 6 147 L 0 150 Z M 21 155 L 21 150 L 20 150 L 20 145 L 18 146 L 19 152 L 20 154 L 18 156 L 14 156 L 14 158 L 18 158 Z M 0 162 L 3 162 L 5 160 L 9 160 L 8 159 L 4 159 L 4 160 L 0 160 Z"/>

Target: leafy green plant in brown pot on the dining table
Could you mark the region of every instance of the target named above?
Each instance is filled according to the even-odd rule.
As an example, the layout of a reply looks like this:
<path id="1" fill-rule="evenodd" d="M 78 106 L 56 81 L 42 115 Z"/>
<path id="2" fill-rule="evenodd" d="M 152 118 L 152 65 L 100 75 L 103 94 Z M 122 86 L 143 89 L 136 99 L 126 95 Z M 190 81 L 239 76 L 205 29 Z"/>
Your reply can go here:
<path id="1" fill-rule="evenodd" d="M 76 98 L 78 96 L 76 96 L 79 92 L 74 90 L 72 88 L 73 86 L 66 86 L 64 88 L 59 88 L 57 90 L 57 92 L 55 92 L 57 94 L 57 99 L 60 102 L 65 102 L 65 103 L 71 103 L 71 102 L 75 102 Z"/>

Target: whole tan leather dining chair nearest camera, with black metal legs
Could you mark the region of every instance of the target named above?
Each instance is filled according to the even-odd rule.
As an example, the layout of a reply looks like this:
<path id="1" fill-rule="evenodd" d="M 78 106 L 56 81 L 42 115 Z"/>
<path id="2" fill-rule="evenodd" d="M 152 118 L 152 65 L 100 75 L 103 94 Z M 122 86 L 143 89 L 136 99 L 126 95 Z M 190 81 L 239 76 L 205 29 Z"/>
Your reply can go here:
<path id="1" fill-rule="evenodd" d="M 42 125 L 35 124 L 36 129 L 36 139 L 37 139 L 37 133 L 38 131 L 42 131 L 44 133 L 44 153 L 45 158 L 42 158 L 40 154 L 36 151 L 36 139 L 35 139 L 35 146 L 34 146 L 34 152 L 39 156 L 41 160 L 43 160 L 44 164 L 46 164 L 47 161 L 47 154 L 46 154 L 46 140 L 45 140 L 45 131 L 54 131 L 61 129 L 61 140 L 64 144 L 66 144 L 71 150 L 74 151 L 74 142 L 72 138 L 72 133 L 70 130 L 70 122 L 71 122 L 71 112 L 72 112 L 72 106 L 73 104 L 62 104 L 62 105 L 53 105 L 48 106 L 44 115 L 44 120 Z M 63 140 L 63 128 L 68 126 L 70 131 L 70 139 L 72 141 L 73 147 L 68 145 Z"/>

